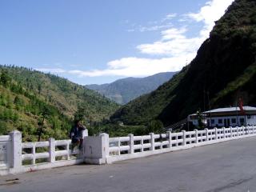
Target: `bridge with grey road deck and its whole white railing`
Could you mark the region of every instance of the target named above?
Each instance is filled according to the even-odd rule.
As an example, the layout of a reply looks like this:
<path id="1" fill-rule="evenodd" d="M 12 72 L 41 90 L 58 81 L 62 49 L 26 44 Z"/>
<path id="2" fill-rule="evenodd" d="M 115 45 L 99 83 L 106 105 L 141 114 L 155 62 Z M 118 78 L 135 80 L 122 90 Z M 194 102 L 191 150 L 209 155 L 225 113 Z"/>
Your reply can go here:
<path id="1" fill-rule="evenodd" d="M 256 126 L 120 138 L 83 135 L 80 152 L 70 151 L 70 140 L 22 142 L 18 131 L 0 136 L 0 174 L 9 174 L 0 177 L 0 191 L 256 190 Z M 58 166 L 65 167 L 44 170 Z"/>

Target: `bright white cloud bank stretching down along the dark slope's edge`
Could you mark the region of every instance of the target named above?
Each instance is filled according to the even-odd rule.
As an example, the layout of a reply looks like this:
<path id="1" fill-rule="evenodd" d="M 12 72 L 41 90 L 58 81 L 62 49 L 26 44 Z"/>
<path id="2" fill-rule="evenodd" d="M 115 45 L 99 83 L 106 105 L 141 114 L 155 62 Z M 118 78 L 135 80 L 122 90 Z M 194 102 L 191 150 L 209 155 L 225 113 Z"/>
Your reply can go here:
<path id="1" fill-rule="evenodd" d="M 178 18 L 177 14 L 168 14 L 160 22 L 151 22 L 154 24 L 153 26 L 139 26 L 138 28 L 134 26 L 130 31 L 162 30 L 158 41 L 137 46 L 137 49 L 142 54 L 158 55 L 158 57 L 161 56 L 162 58 L 146 58 L 145 56 L 143 58 L 120 58 L 108 62 L 104 70 L 40 70 L 52 73 L 76 74 L 80 77 L 112 75 L 142 77 L 165 71 L 181 70 L 186 63 L 189 63 L 196 56 L 199 46 L 209 37 L 214 21 L 218 20 L 225 13 L 226 8 L 231 2 L 234 2 L 234 0 L 211 0 L 198 13 L 186 14 L 186 19 L 184 19 L 184 15 Z M 177 21 L 182 21 L 186 26 L 172 26 L 169 20 L 173 18 L 176 18 Z M 190 19 L 190 21 L 188 22 L 187 19 Z M 202 22 L 203 26 L 197 35 L 190 35 L 188 37 L 190 22 Z"/>

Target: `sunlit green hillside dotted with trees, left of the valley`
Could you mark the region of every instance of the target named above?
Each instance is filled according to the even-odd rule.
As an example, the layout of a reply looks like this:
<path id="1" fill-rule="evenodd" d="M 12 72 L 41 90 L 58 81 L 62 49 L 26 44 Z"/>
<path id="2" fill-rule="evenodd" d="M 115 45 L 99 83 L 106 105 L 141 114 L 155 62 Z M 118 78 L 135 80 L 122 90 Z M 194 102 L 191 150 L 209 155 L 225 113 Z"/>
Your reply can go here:
<path id="1" fill-rule="evenodd" d="M 118 104 L 64 78 L 0 66 L 0 134 L 21 130 L 23 139 L 66 138 L 72 119 L 99 122 Z"/>

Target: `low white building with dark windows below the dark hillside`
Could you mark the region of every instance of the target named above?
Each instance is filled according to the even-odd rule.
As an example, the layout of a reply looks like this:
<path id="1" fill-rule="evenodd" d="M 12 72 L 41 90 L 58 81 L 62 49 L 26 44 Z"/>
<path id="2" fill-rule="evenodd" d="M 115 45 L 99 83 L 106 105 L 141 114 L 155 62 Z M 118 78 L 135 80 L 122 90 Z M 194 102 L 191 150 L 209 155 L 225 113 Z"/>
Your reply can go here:
<path id="1" fill-rule="evenodd" d="M 256 107 L 244 106 L 244 113 L 239 107 L 218 108 L 202 112 L 202 122 L 207 127 L 256 126 Z M 198 126 L 198 114 L 190 114 L 188 121 Z"/>

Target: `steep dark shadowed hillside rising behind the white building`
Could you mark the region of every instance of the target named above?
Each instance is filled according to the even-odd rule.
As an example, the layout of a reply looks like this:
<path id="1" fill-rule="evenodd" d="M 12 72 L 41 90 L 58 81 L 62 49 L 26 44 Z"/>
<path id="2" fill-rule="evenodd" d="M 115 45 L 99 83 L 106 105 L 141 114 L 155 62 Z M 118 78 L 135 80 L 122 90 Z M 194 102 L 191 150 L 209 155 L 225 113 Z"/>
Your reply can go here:
<path id="1" fill-rule="evenodd" d="M 238 98 L 256 105 L 256 2 L 236 0 L 216 22 L 189 66 L 151 94 L 122 106 L 114 121 L 166 126 L 196 110 L 235 106 Z"/>

